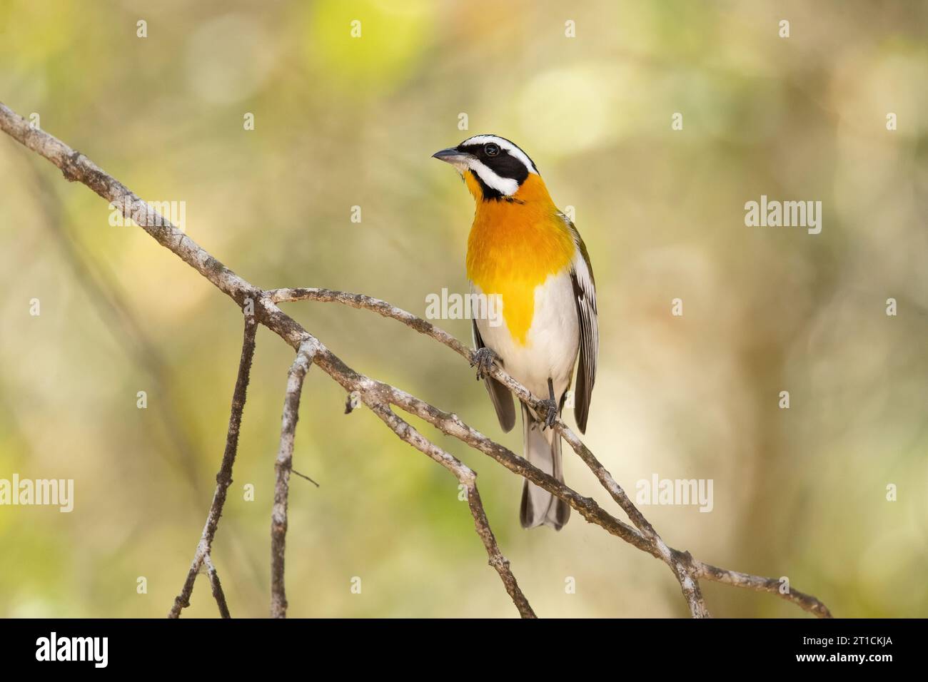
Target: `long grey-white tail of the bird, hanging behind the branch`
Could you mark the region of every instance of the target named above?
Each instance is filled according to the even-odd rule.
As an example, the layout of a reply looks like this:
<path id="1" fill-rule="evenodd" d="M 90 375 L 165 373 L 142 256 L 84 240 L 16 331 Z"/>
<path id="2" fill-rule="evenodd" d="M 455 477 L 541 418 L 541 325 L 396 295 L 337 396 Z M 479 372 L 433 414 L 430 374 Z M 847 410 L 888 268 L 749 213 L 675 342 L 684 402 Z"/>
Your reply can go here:
<path id="1" fill-rule="evenodd" d="M 561 434 L 553 429 L 542 431 L 541 422 L 525 405 L 522 405 L 522 442 L 529 463 L 563 483 Z M 519 509 L 522 528 L 548 525 L 560 531 L 570 518 L 571 508 L 566 502 L 535 483 L 525 481 L 522 485 L 522 507 Z"/>

